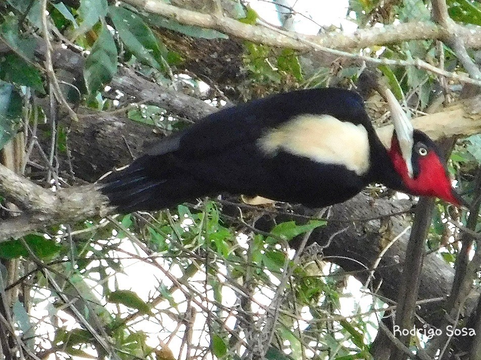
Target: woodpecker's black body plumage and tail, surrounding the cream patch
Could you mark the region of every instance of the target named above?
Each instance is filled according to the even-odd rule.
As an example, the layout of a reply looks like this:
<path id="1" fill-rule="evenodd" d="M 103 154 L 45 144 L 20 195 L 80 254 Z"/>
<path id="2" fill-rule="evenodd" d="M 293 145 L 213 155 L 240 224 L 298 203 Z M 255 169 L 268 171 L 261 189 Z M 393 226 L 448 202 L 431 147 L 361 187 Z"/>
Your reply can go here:
<path id="1" fill-rule="evenodd" d="M 309 89 L 227 108 L 154 145 L 103 191 L 125 212 L 156 210 L 222 191 L 324 206 L 359 192 L 366 182 L 344 167 L 317 164 L 280 151 L 268 156 L 258 139 L 301 114 L 331 115 L 370 127 L 359 95 Z M 343 186 L 336 183 L 343 179 Z M 335 184 L 335 185 L 334 185 Z M 329 196 L 326 196 L 329 194 Z"/>

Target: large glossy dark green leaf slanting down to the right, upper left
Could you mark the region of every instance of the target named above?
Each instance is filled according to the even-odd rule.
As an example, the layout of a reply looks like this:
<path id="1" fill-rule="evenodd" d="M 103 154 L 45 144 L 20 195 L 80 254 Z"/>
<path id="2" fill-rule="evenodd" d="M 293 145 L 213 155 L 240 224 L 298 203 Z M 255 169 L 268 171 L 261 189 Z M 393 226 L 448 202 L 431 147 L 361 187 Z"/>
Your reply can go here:
<path id="1" fill-rule="evenodd" d="M 135 13 L 125 8 L 110 6 L 109 15 L 118 31 L 120 39 L 137 59 L 156 69 L 163 69 L 160 44 L 152 30 Z"/>

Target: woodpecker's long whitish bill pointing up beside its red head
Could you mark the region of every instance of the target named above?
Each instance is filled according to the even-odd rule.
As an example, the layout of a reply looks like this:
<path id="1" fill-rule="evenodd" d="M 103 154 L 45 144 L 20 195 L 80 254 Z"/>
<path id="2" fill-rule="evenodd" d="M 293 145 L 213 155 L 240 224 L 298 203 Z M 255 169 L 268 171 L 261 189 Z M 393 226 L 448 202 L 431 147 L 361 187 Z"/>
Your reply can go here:
<path id="1" fill-rule="evenodd" d="M 408 175 L 410 178 L 413 177 L 413 168 L 412 168 L 412 148 L 414 145 L 413 139 L 413 131 L 414 128 L 412 127 L 411 121 L 407 117 L 404 110 L 399 105 L 398 100 L 391 92 L 389 88 L 386 88 L 384 91 L 384 95 L 388 100 L 388 105 L 391 110 L 391 119 L 394 123 L 394 129 L 396 130 L 396 137 L 398 138 L 399 147 L 401 148 L 401 153 L 403 155 L 403 159 L 406 162 L 406 167 L 408 169 Z"/>

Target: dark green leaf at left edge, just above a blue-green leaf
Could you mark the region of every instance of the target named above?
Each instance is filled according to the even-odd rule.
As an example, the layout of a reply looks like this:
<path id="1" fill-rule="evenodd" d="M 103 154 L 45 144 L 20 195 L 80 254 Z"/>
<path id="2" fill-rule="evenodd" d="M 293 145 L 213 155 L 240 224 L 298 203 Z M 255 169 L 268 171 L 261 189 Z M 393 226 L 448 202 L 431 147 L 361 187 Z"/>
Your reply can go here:
<path id="1" fill-rule="evenodd" d="M 0 78 L 17 85 L 33 88 L 45 93 L 40 71 L 16 54 L 7 54 L 0 60 Z"/>

